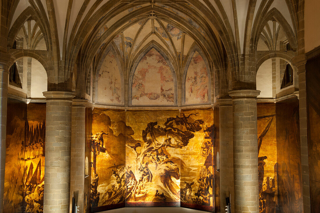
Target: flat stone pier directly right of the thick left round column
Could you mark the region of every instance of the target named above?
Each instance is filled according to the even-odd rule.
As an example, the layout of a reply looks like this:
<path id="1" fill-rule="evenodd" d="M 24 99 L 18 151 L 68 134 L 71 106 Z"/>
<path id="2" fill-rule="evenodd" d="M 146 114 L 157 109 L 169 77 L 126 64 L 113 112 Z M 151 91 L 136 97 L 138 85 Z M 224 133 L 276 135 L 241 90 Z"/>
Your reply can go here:
<path id="1" fill-rule="evenodd" d="M 85 150 L 85 105 L 87 101 L 73 99 L 71 127 L 71 176 L 70 213 L 72 194 L 75 194 L 79 213 L 84 209 L 84 150 Z"/>

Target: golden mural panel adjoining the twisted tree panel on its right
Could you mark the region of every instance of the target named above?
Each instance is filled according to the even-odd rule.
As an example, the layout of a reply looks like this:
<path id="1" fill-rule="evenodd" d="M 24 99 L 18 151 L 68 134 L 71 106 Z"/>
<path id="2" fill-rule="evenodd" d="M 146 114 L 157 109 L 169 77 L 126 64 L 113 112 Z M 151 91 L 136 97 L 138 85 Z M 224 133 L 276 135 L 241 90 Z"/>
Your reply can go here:
<path id="1" fill-rule="evenodd" d="M 214 146 L 215 126 L 213 109 L 181 110 L 181 115 L 190 115 L 195 120 L 195 131 L 189 139 L 188 146 L 180 150 L 181 207 L 214 211 Z"/>

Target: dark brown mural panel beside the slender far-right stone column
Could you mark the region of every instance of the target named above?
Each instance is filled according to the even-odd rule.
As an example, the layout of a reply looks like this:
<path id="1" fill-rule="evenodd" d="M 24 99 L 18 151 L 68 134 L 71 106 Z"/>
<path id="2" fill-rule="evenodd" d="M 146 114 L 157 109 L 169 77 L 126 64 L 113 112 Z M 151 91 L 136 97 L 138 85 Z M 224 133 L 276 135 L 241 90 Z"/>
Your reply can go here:
<path id="1" fill-rule="evenodd" d="M 276 103 L 279 211 L 302 212 L 299 100 Z"/>

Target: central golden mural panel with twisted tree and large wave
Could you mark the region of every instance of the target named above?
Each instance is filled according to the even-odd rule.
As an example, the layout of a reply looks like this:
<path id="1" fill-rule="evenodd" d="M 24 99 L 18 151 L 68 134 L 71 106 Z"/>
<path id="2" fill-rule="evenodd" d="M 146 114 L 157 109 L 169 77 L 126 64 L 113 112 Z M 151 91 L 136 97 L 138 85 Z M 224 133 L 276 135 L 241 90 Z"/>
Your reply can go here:
<path id="1" fill-rule="evenodd" d="M 126 206 L 180 205 L 180 148 L 190 138 L 180 119 L 177 110 L 126 112 Z"/>

